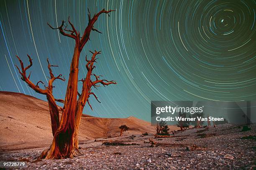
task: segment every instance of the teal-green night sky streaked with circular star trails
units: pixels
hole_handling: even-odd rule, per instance
[[[136,116],[150,120],[151,100],[256,100],[255,0],[0,0],[0,90],[42,100],[20,80],[18,55],[31,80],[46,82],[49,57],[55,75],[69,75],[74,40],[53,27],[70,20],[83,32],[102,8],[90,41],[80,56],[79,79],[86,75],[85,55],[101,50],[95,73],[117,85],[94,90],[84,113],[98,117]],[[43,87],[43,86],[41,86]],[[55,81],[54,96],[65,97],[66,82]],[[79,82],[79,91],[82,83]]]

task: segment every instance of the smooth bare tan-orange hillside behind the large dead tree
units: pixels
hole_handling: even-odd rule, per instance
[[[118,135],[118,127],[123,124],[130,128],[124,135],[155,133],[150,122],[136,117],[100,118],[83,115],[79,140]],[[44,147],[49,146],[52,139],[47,102],[22,93],[0,91],[0,149]]]

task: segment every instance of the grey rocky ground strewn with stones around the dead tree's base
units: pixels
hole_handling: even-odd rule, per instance
[[[216,128],[192,128],[172,138],[152,139],[156,143],[184,144],[150,147],[153,135],[101,138],[122,140],[138,145],[102,145],[88,140],[80,144],[82,156],[64,160],[33,160],[45,148],[1,151],[0,160],[27,161],[30,170],[88,169],[88,170],[241,170],[256,169],[256,125],[237,127],[230,124]],[[251,136],[250,136],[251,135]],[[187,147],[186,147],[187,146]]]

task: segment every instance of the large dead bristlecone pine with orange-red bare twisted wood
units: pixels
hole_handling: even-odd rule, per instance
[[[67,28],[68,24],[62,21],[61,25],[58,28],[53,28],[49,23],[49,27],[51,29],[59,30],[59,32],[66,36],[74,39],[74,54],[72,57],[72,62],[70,65],[70,72],[69,72],[69,80],[67,82],[67,91],[66,97],[64,100],[56,99],[53,96],[53,82],[57,79],[65,81],[64,77],[60,74],[58,76],[54,76],[51,67],[57,67],[57,65],[51,65],[49,59],[48,62],[48,69],[50,73],[50,77],[48,81],[48,86],[44,86],[45,88],[39,87],[40,83],[44,84],[43,81],[38,81],[36,84],[31,82],[30,76],[27,76],[27,70],[32,66],[32,59],[28,55],[28,59],[30,64],[27,67],[24,67],[22,60],[17,56],[18,60],[20,61],[20,68],[18,71],[21,75],[21,79],[25,81],[29,87],[31,87],[36,92],[46,95],[48,100],[50,115],[51,115],[51,130],[53,134],[53,141],[51,146],[44,150],[38,158],[43,159],[64,159],[64,158],[73,158],[74,156],[81,155],[78,150],[78,129],[81,120],[82,111],[84,109],[85,104],[87,103],[90,107],[89,97],[93,96],[97,101],[98,98],[94,92],[92,92],[92,87],[100,87],[100,85],[106,86],[110,84],[116,84],[115,81],[108,81],[100,79],[99,75],[95,75],[92,73],[93,69],[95,68],[94,63],[96,62],[96,56],[100,54],[100,51],[90,51],[92,53],[92,57],[85,60],[87,62],[87,75],[82,79],[78,80],[78,72],[79,72],[79,58],[80,54],[83,50],[84,45],[90,40],[90,32],[91,31],[98,31],[94,28],[94,24],[97,21],[98,17],[101,14],[107,14],[108,16],[110,12],[113,10],[101,10],[99,13],[95,14],[92,18],[90,15],[90,11],[88,10],[88,20],[89,23],[85,28],[82,36],[80,33],[74,28],[74,25],[68,19],[68,24],[71,27],[70,29]],[[77,85],[78,81],[82,82],[82,91],[79,92]],[[60,110],[62,112],[61,118],[59,119],[59,109],[56,102],[64,103],[63,108]],[[92,107],[91,107],[92,108]]]

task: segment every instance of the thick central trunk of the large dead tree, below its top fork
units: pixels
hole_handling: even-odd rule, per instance
[[[79,44],[75,46],[74,55],[70,66],[69,82],[67,85],[66,98],[61,116],[59,128],[54,135],[51,149],[46,155],[46,159],[50,158],[73,158],[77,155],[74,150],[73,133],[74,133],[74,117],[77,106],[77,81],[78,81],[78,64],[79,64]]]

